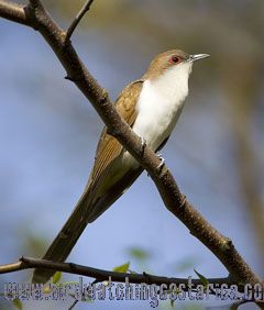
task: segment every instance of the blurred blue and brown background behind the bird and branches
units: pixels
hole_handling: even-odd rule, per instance
[[[43,1],[64,27],[82,2]],[[113,101],[161,52],[182,48],[211,55],[194,66],[186,107],[162,154],[188,200],[232,239],[261,277],[263,20],[261,0],[95,0],[73,35],[81,59]],[[103,124],[64,79],[64,69],[37,32],[1,19],[0,68],[0,264],[7,264],[22,255],[44,254],[82,192]],[[133,255],[134,248],[145,258]],[[128,261],[138,273],[196,277],[196,268],[206,277],[228,276],[209,250],[167,212],[145,173],[87,226],[68,257],[102,269]],[[30,276],[31,272],[1,276],[1,290],[3,283],[29,281]],[[37,307],[65,309],[70,302]],[[120,302],[125,309],[148,307],[148,301],[103,306],[118,309]],[[2,300],[0,305],[12,309]],[[76,309],[101,306],[79,302]],[[167,303],[160,307],[166,309]],[[25,302],[24,309],[35,309],[35,303]]]

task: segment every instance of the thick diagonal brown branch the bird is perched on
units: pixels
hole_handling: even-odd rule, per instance
[[[0,16],[14,20],[12,19],[13,13],[7,14],[7,10],[1,10],[1,8],[6,8],[3,3],[0,0]],[[158,168],[160,158],[155,153],[146,146],[142,154],[141,139],[118,114],[108,98],[107,91],[100,87],[84,66],[72,43],[69,41],[65,42],[65,32],[52,20],[42,7],[41,1],[30,0],[30,3],[31,5],[24,8],[26,20],[23,23],[40,31],[67,71],[67,77],[90,100],[108,126],[108,132],[147,170],[167,210],[177,217],[189,229],[190,233],[219,258],[232,279],[239,283],[261,283],[260,278],[235,250],[232,241],[213,229],[185,199],[167,167],[164,166],[161,171]],[[22,23],[21,21],[22,18],[18,19],[18,22]]]

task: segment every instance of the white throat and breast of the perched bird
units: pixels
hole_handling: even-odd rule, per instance
[[[136,109],[138,118],[133,131],[145,139],[152,150],[172,133],[188,95],[188,77],[191,64],[172,67],[155,80],[145,80]],[[127,164],[131,156],[124,153]]]

